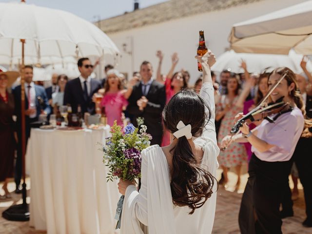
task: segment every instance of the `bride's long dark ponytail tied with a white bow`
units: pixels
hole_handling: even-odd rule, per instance
[[[209,115],[205,113],[208,109]],[[177,123],[182,120],[185,125],[192,125],[192,136],[198,137],[211,117],[211,110],[205,100],[193,90],[181,90],[173,96],[163,110],[166,129],[176,132]],[[208,121],[207,121],[208,119]],[[191,208],[189,214],[204,205],[213,193],[215,177],[202,168],[196,161],[192,148],[186,137],[177,139],[171,150],[173,155],[173,174],[170,182],[173,203],[177,206]]]

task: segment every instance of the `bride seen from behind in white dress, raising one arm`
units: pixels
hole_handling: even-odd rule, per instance
[[[215,55],[197,56],[203,68],[200,95],[178,92],[163,110],[171,144],[142,151],[141,188],[120,180],[125,195],[121,234],[208,234],[215,218],[219,148],[210,67]]]

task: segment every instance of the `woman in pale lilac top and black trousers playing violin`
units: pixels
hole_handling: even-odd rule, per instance
[[[284,77],[281,81],[280,78]],[[282,99],[288,103],[278,114],[264,119],[252,131],[243,123],[234,142],[250,142],[253,155],[249,162],[249,178],[239,211],[239,228],[242,234],[281,234],[282,220],[279,206],[292,165],[292,154],[304,128],[304,107],[297,82],[289,68],[275,69],[269,75],[269,88],[273,89],[273,102]],[[241,118],[242,113],[235,119]],[[226,146],[231,137],[222,140]]]

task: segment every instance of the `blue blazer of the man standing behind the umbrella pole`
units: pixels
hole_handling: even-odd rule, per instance
[[[21,117],[21,98],[20,98],[20,91],[21,86],[15,87],[13,90],[14,100],[15,100],[15,115],[17,116],[17,122],[19,124],[19,119]],[[35,92],[36,92],[36,109],[37,109],[37,118],[39,117],[41,110],[44,110],[48,115],[51,113],[49,101],[47,95],[45,93],[45,89],[42,86],[35,84]],[[43,99],[43,104],[39,104],[38,98]],[[28,99],[26,97],[26,90],[25,90],[25,110],[28,109]],[[26,116],[26,119],[28,117]]]

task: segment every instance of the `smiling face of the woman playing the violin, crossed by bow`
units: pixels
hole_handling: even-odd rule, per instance
[[[268,81],[268,86],[269,89],[279,80],[279,78],[281,77],[281,75],[277,74],[277,73],[273,73]],[[288,101],[290,98],[292,98],[290,96],[290,93],[292,92],[292,90],[295,88],[295,84],[292,82],[290,85],[288,85],[287,79],[284,78],[278,85],[277,87],[273,90],[272,94],[271,94],[271,98],[272,100],[275,102],[276,100],[278,100],[279,98],[283,98],[284,101]]]

